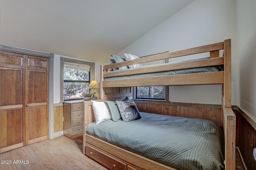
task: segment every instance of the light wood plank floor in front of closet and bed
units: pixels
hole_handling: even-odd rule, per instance
[[[106,170],[82,153],[82,137],[74,140],[65,136],[48,139],[4,152],[0,160],[0,163],[11,161],[9,165],[0,164],[1,170]],[[15,164],[16,160],[23,160],[20,162],[23,164]]]

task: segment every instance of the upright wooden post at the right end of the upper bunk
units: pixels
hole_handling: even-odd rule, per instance
[[[225,107],[231,107],[231,39],[224,40],[224,86]]]

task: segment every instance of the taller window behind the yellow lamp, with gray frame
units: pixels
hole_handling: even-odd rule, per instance
[[[94,80],[94,64],[86,61],[61,57],[60,99],[82,99],[82,93],[89,91],[89,84]],[[63,88],[62,88],[63,87]],[[63,99],[63,100],[62,100]]]

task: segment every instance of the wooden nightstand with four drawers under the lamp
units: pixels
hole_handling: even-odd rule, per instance
[[[75,139],[83,135],[84,100],[65,101],[64,135]]]

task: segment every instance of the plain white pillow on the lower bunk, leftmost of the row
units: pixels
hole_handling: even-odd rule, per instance
[[[92,100],[92,109],[96,120],[96,125],[100,122],[112,119],[108,104]]]

